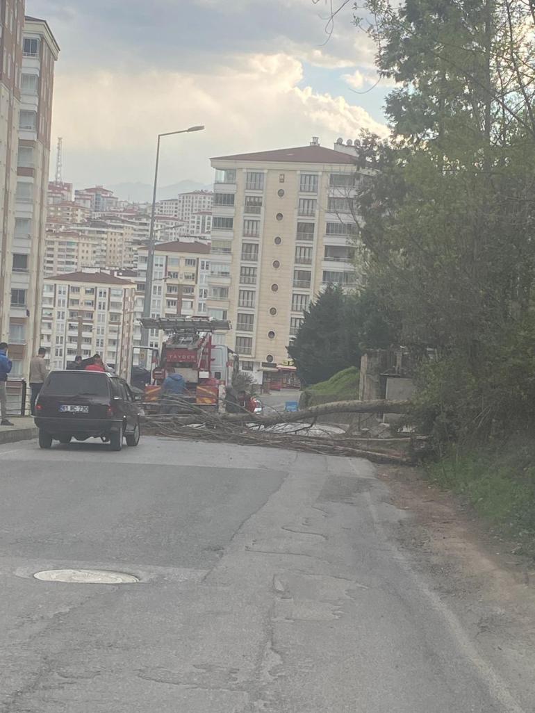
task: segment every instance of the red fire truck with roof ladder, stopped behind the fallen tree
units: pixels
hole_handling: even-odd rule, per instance
[[[217,406],[219,386],[232,384],[238,355],[228,347],[213,344],[212,335],[228,332],[230,322],[209,317],[156,317],[143,318],[141,324],[145,329],[159,329],[168,334],[158,366],[152,372],[152,383],[145,389],[146,401],[159,401],[168,366],[173,366],[185,381],[185,398],[200,406]]]

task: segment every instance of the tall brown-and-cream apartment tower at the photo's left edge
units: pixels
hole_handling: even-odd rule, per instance
[[[26,376],[39,342],[54,63],[46,21],[24,17],[24,1],[0,5],[0,339],[13,376]]]

